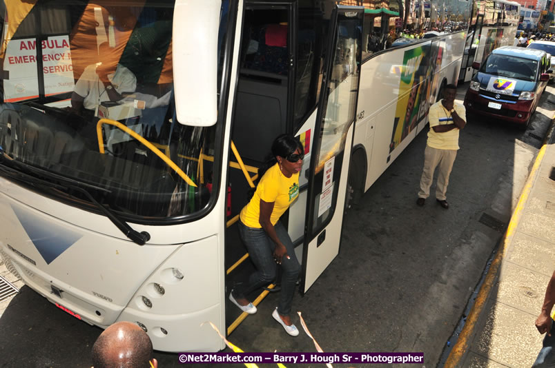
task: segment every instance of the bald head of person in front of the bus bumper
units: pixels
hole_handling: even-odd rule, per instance
[[[152,359],[153,344],[135,323],[114,323],[93,345],[95,368],[149,368]]]

